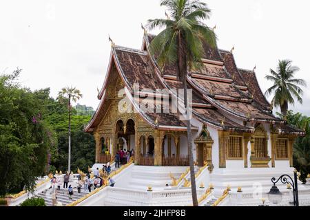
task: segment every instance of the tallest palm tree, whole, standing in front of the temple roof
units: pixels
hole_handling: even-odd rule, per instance
[[[216,35],[202,21],[209,19],[211,10],[206,3],[200,0],[162,0],[161,6],[167,7],[170,17],[167,19],[152,19],[147,28],[165,28],[150,44],[150,52],[157,57],[158,65],[177,64],[178,80],[183,81],[184,104],[189,113],[187,104],[187,71],[202,67],[202,58],[205,55],[203,45],[216,47]],[[196,180],[194,171],[192,129],[189,118],[187,122],[187,144],[189,166],[192,184],[193,206],[198,206]]]

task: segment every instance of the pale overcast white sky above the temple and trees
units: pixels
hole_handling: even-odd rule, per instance
[[[141,23],[165,18],[159,0],[1,0],[0,74],[23,69],[31,89],[50,87],[53,97],[67,85],[81,89],[80,104],[96,109],[110,58],[108,34],[116,45],[140,49]],[[253,69],[265,91],[269,68],[279,59],[300,67],[297,78],[309,85],[304,104],[310,115],[310,2],[306,0],[209,0],[207,25],[216,25],[218,46],[231,50],[238,67]],[[156,34],[156,32],[154,32]],[[270,98],[269,98],[270,99]]]

